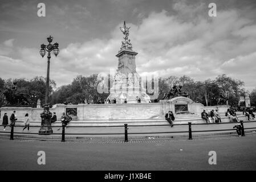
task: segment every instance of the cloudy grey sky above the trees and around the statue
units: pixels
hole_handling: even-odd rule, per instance
[[[38,17],[38,3],[46,16]],[[209,3],[217,5],[210,17]],[[194,80],[221,74],[256,87],[256,1],[0,0],[0,77],[46,76],[39,55],[47,36],[59,43],[50,77],[57,86],[77,75],[117,68],[115,55],[126,20],[140,75],[187,75]]]

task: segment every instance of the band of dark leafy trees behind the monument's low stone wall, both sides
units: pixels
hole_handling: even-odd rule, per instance
[[[108,75],[108,81],[110,77]],[[42,76],[34,77],[30,80],[25,78],[14,78],[3,80],[0,78],[0,106],[5,104],[5,97],[3,91],[7,88],[11,88],[13,82],[17,82],[19,92],[25,92],[30,94],[36,94],[44,104],[45,91],[46,91],[46,78]],[[78,75],[74,78],[71,84],[60,86],[56,88],[54,80],[50,80],[50,102],[51,105],[60,103],[72,103],[80,104],[84,101],[96,103],[99,99],[104,100],[108,97],[109,93],[97,92],[97,87],[101,82],[101,77],[97,74],[90,76]],[[108,91],[111,83],[108,82]],[[183,92],[188,93],[189,97],[195,101],[206,105],[205,93],[209,94],[208,105],[216,105],[217,98],[220,95],[229,97],[229,105],[237,106],[240,96],[245,96],[245,89],[243,81],[235,80],[227,75],[219,75],[215,79],[205,81],[194,81],[189,76],[169,76],[166,78],[159,78],[159,97],[157,100],[161,100],[164,93],[169,92],[173,85],[182,85]],[[249,92],[247,92],[249,93]],[[251,105],[256,105],[256,89],[249,93]]]

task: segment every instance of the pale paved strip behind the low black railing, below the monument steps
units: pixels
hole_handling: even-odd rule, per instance
[[[223,129],[233,129],[234,125],[237,125],[239,123],[225,123],[225,124],[209,124],[209,125],[192,125],[192,132],[193,131],[202,131],[202,130],[223,130]],[[245,122],[244,123],[245,128],[251,128],[256,127],[256,122]],[[2,128],[2,127],[1,127]],[[30,137],[41,137],[41,138],[60,138],[62,129],[57,131],[59,127],[52,127],[54,130],[54,134],[59,133],[59,135],[38,135],[39,127],[30,127],[31,133],[27,133],[27,130],[25,130],[24,133],[22,133],[23,127],[15,127],[14,131],[19,132],[21,134],[14,134],[14,137],[16,135],[22,136],[30,136]],[[252,129],[255,130],[255,129]],[[1,131],[3,131],[1,129]],[[131,134],[131,133],[156,133],[156,132],[180,132],[180,131],[186,131],[186,133],[162,133],[162,134]],[[247,130],[246,130],[247,131]],[[6,132],[10,132],[10,127],[6,127]],[[198,133],[192,133],[193,136],[196,135],[210,135],[214,133],[235,133],[235,130],[231,131],[212,131],[212,132],[198,132]],[[32,134],[34,133],[34,134]],[[87,135],[78,135],[79,133],[87,133]],[[90,133],[97,133],[97,134],[104,134],[105,135],[91,135]],[[120,133],[117,135],[112,135],[112,133]],[[0,133],[2,135],[3,133]],[[9,133],[5,133],[7,136],[9,136]],[[66,138],[68,137],[88,137],[88,138],[124,138],[124,127],[87,127],[87,128],[74,128],[74,127],[67,127],[66,129]],[[71,134],[71,135],[68,135]],[[76,134],[76,135],[74,135]],[[148,138],[148,137],[160,137],[160,136],[188,136],[188,126],[140,126],[140,127],[132,127],[128,126],[128,138]]]

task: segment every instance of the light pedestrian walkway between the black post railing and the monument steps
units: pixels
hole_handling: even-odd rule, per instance
[[[193,137],[236,134],[234,125],[239,123],[223,123],[208,125],[192,125]],[[256,122],[244,122],[246,132],[256,131]],[[61,127],[52,127],[53,134],[38,135],[40,127],[30,127],[30,131],[22,131],[23,127],[14,127],[14,138],[58,139],[62,137]],[[58,130],[59,129],[59,130]],[[129,139],[188,138],[188,125],[170,126],[128,126]],[[217,131],[210,131],[217,130]],[[225,130],[225,131],[219,131]],[[6,131],[1,128],[0,137],[9,137],[10,127]],[[66,139],[124,139],[124,127],[66,127]]]

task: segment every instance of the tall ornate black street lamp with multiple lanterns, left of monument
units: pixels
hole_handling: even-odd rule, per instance
[[[50,58],[51,58],[51,51],[54,53],[55,56],[59,54],[59,44],[54,43],[53,45],[51,44],[52,42],[52,36],[49,36],[47,38],[48,45],[41,45],[41,49],[39,51],[40,55],[43,57],[46,55],[46,51],[48,52],[47,58],[48,58],[48,64],[47,64],[47,77],[46,77],[46,98],[44,102],[44,107],[43,107],[43,113],[40,114],[40,117],[42,118],[41,121],[41,127],[39,130],[39,135],[50,135],[52,134],[52,129],[51,129],[51,117],[52,113],[49,111],[49,75],[50,75]]]

